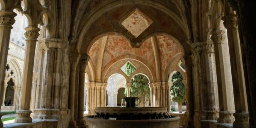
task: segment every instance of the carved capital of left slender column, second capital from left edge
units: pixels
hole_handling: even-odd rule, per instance
[[[40,29],[38,27],[32,27],[32,26],[28,26],[25,28],[26,32],[25,32],[25,37],[26,40],[37,40],[38,36],[39,36],[39,31]]]

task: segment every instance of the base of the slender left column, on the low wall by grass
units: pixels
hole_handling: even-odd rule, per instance
[[[17,110],[18,117],[15,119],[16,123],[31,123],[30,110]]]

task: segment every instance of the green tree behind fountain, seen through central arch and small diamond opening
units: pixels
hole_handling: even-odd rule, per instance
[[[129,62],[125,64],[125,74],[130,76],[134,72],[135,67]],[[150,101],[150,88],[148,78],[144,75],[136,75],[131,79],[130,96],[140,98],[140,106],[144,107],[145,103]],[[125,96],[127,96],[127,88],[125,88]]]

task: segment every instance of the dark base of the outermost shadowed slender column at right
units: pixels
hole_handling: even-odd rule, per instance
[[[234,113],[235,121],[233,123],[234,128],[249,128],[249,113]]]

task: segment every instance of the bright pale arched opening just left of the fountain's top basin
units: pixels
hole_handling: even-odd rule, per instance
[[[118,103],[117,103],[118,90],[119,88],[125,88],[125,83],[126,83],[126,79],[121,74],[113,74],[108,78],[107,107],[118,106]]]

